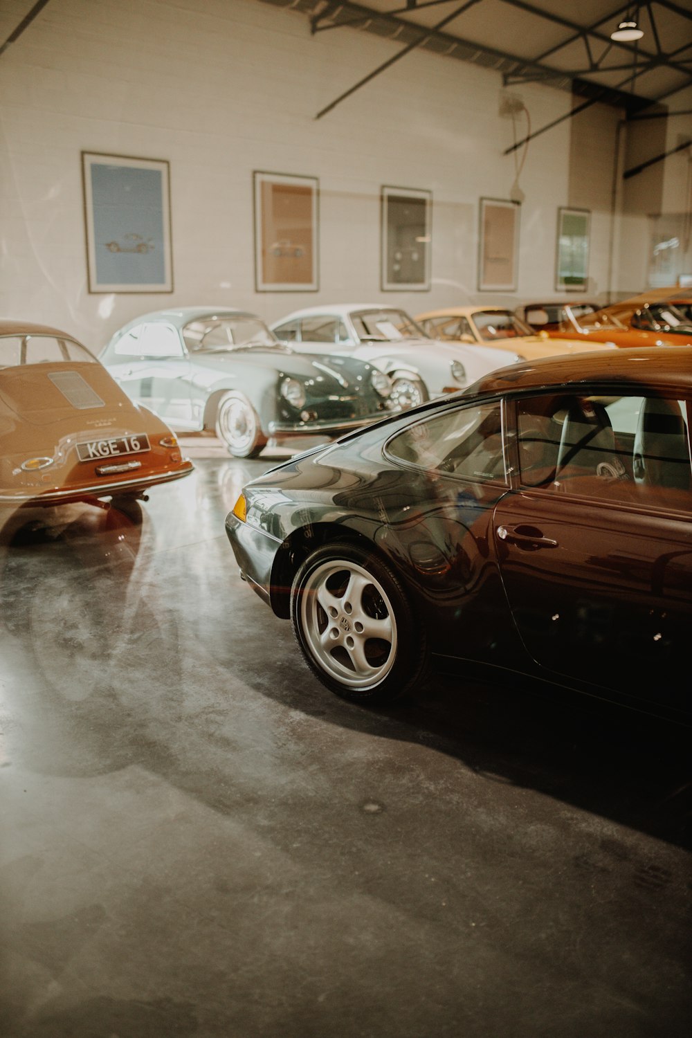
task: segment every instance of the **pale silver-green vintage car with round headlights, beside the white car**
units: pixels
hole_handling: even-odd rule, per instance
[[[100,359],[131,400],[176,431],[215,430],[238,458],[304,437],[334,439],[389,408],[391,383],[377,367],[299,353],[244,310],[144,313],[115,332]]]

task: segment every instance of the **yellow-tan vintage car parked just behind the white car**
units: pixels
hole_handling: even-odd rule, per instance
[[[577,335],[574,338],[552,338],[548,332],[536,332],[513,310],[500,306],[448,306],[418,313],[416,321],[428,335],[443,343],[491,346],[507,353],[519,353],[524,360],[612,349],[601,343],[585,343]]]

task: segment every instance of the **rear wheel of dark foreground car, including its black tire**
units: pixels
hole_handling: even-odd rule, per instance
[[[390,703],[427,668],[425,631],[398,577],[350,542],[305,559],[290,589],[290,623],[310,670],[352,703]]]

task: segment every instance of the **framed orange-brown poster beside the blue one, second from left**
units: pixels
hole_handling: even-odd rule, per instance
[[[316,292],[315,176],[254,172],[255,290]]]

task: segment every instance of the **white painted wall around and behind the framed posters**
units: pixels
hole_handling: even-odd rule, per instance
[[[28,0],[5,0],[3,38]],[[0,316],[55,324],[100,348],[124,321],[172,304],[246,307],[266,320],[321,301],[412,312],[515,305],[554,293],[557,209],[569,204],[572,120],[505,156],[526,125],[499,114],[501,77],[412,52],[316,119],[400,45],[255,0],[60,0],[0,58]],[[531,129],[569,92],[513,91]],[[82,151],[170,162],[174,292],[89,294]],[[515,294],[477,291],[478,199],[507,198],[521,167]],[[252,171],[320,181],[320,290],[254,290]],[[594,168],[610,184],[612,163]],[[380,188],[433,192],[430,292],[380,292]],[[610,213],[597,212],[590,274],[607,284]],[[638,291],[640,283],[633,286]]]

